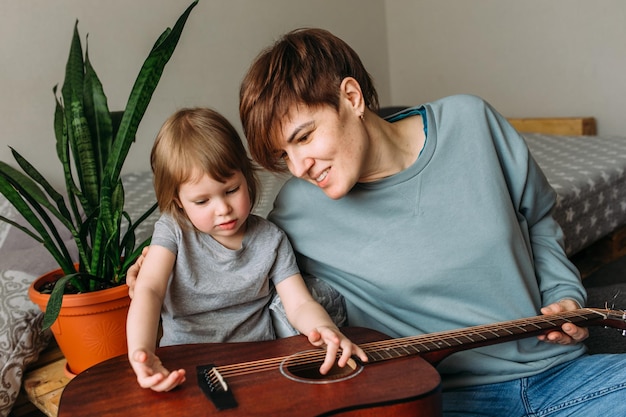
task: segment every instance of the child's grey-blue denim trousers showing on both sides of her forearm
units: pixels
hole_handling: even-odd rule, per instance
[[[348,320],[343,296],[319,278],[305,276],[304,282],[309,288],[313,298],[326,309],[333,322],[335,322],[338,327],[347,325]],[[274,323],[276,337],[281,338],[298,334],[298,331],[289,324],[287,315],[285,314],[285,308],[278,294],[275,294],[272,298],[269,309]]]

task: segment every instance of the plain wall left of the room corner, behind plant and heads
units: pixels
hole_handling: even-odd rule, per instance
[[[61,84],[76,19],[112,109],[125,105],[154,41],[191,0],[5,0],[0,2],[0,158],[15,147],[60,185],[52,87]],[[382,0],[200,0],[131,148],[125,170],[149,170],[161,123],[182,106],[221,111],[240,131],[239,83],[252,59],[300,26],[331,30],[361,55],[390,101]],[[60,85],[59,85],[60,87]]]

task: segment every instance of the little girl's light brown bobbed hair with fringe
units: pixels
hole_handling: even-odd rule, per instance
[[[207,108],[181,109],[170,116],[157,134],[150,154],[154,191],[162,213],[181,225],[187,217],[175,199],[181,184],[193,175],[208,174],[225,182],[241,171],[254,206],[258,179],[252,160],[235,128],[224,116]]]

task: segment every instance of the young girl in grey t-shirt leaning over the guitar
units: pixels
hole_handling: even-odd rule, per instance
[[[326,345],[326,373],[364,352],[312,298],[285,234],[250,214],[257,179],[232,125],[205,108],[183,109],[161,128],[152,148],[161,210],[128,312],[128,356],[139,385],[168,391],[185,370],[168,371],[161,346],[274,339],[272,287],[291,324],[315,346]],[[272,283],[270,283],[272,281]]]

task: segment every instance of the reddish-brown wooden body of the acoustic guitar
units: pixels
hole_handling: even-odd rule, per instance
[[[388,338],[367,329],[344,330],[357,343]],[[166,393],[140,388],[127,357],[119,356],[70,381],[61,396],[59,417],[304,416],[325,412],[349,416],[441,415],[439,374],[419,356],[366,365],[337,382],[295,381],[281,374],[279,366],[268,366],[310,349],[303,336],[270,342],[160,348],[157,354],[166,367],[187,371],[187,381]],[[224,374],[237,407],[218,411],[203,394],[196,367],[206,364],[220,369],[231,364],[237,369],[252,369],[246,375]]]

